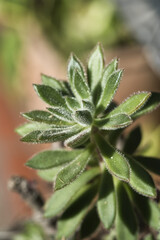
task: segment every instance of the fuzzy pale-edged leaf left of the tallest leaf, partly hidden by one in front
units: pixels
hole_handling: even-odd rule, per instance
[[[74,85],[73,85],[75,69],[78,69],[82,77],[85,76],[83,66],[80,60],[75,55],[72,54],[68,63],[68,78],[69,78],[69,82],[70,82],[73,93],[75,92]]]

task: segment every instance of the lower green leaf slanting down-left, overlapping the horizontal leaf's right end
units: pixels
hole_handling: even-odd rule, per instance
[[[90,155],[90,149],[86,149],[74,161],[64,167],[57,175],[55,190],[65,187],[79,177],[85,170]]]

